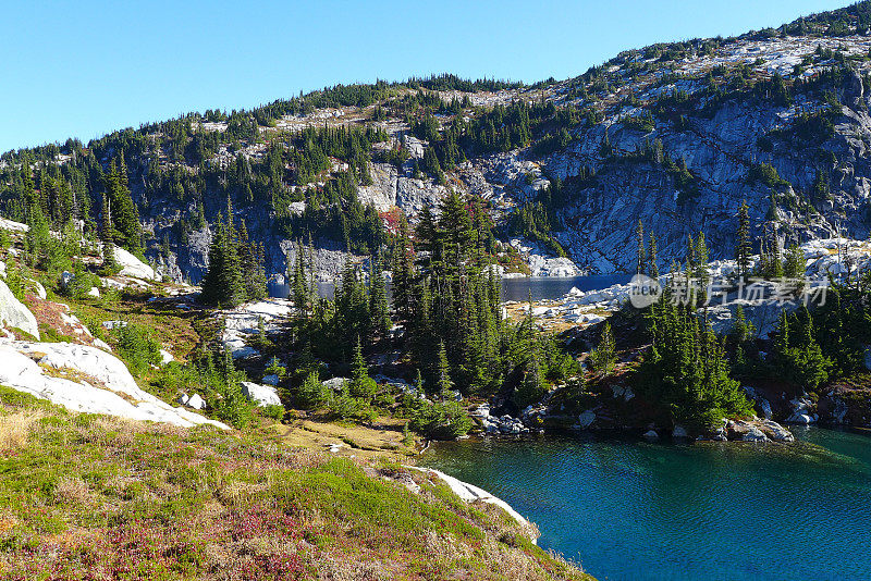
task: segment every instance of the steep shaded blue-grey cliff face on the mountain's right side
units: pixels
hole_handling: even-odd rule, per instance
[[[850,77],[845,95],[861,79]],[[553,176],[571,180],[579,168],[597,171],[592,180],[572,188],[569,202],[561,209],[563,245],[572,257],[593,271],[626,271],[634,268],[636,243],[634,226],[638,221],[658,237],[660,257],[682,259],[686,239],[703,231],[715,258],[729,256],[734,247],[736,214],[743,201],[750,208],[756,234],[761,234],[771,208],[772,188],[751,177],[761,163],[777,170],[785,182],[774,188],[786,207],[809,191],[820,172],[820,151],[832,153],[836,162],[826,162],[835,176],[830,199],[818,208],[789,210],[776,208],[775,220],[768,225],[784,239],[788,233],[798,239],[829,237],[838,226],[854,237],[869,232],[869,178],[871,164],[867,144],[871,140],[868,102],[860,96],[850,109],[842,107],[833,136],[821,149],[803,149],[797,144],[777,144],[774,150],[760,148],[760,138],[788,124],[795,107],[775,107],[764,102],[729,102],[712,119],[692,118],[688,127],[677,131],[664,123],[642,134],[614,122],[606,128],[617,150],[633,152],[660,139],[672,159],[684,160],[697,182],[698,190],[689,199],[670,172],[654,162],[628,157],[602,159],[598,152],[604,139],[596,128],[582,135],[568,151],[543,160],[542,166]],[[723,252],[723,249],[728,251]]]

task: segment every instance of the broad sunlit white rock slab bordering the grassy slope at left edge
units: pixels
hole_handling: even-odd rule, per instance
[[[228,425],[173,408],[136,385],[126,366],[96,347],[73,343],[0,343],[0,384],[70,410],[185,428]]]

